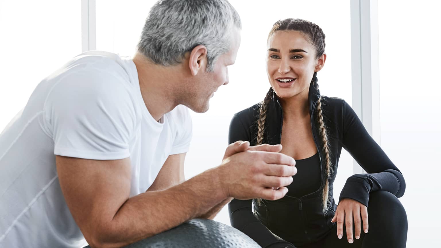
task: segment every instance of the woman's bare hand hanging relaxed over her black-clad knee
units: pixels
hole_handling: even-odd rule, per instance
[[[353,243],[352,223],[355,227],[355,238],[359,239],[361,235],[361,223],[363,221],[363,230],[367,233],[369,229],[367,207],[356,200],[345,198],[337,206],[334,218],[331,222],[337,222],[337,236],[343,237],[343,225],[346,225],[346,236],[348,242]]]

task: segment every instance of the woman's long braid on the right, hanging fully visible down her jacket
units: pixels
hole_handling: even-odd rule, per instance
[[[318,83],[317,78],[313,77],[313,83],[314,87],[318,90]],[[326,171],[325,171],[325,185],[323,186],[323,193],[322,193],[322,203],[323,203],[323,213],[325,214],[326,211],[329,209],[329,178],[331,176],[331,173],[333,173],[333,169],[331,167],[331,159],[330,159],[330,153],[329,153],[329,142],[328,142],[328,131],[326,129],[326,126],[323,122],[323,115],[321,111],[321,101],[322,97],[320,96],[317,101],[317,121],[318,121],[318,129],[321,137],[321,142],[323,143],[323,153],[325,154],[325,165],[326,165]]]

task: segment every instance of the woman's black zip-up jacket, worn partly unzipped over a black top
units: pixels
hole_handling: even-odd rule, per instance
[[[300,198],[285,196],[276,201],[263,200],[261,206],[254,201],[254,214],[251,209],[252,200],[233,199],[228,204],[232,226],[246,233],[262,247],[268,247],[275,243],[283,244],[284,240],[295,245],[309,244],[325,237],[336,225],[331,222],[336,210],[336,203],[333,199],[333,182],[342,147],[367,173],[349,177],[340,193],[340,200],[351,198],[369,207],[370,192],[384,190],[391,192],[396,197],[401,197],[404,194],[406,184],[400,170],[368,134],[351,106],[343,99],[322,96],[321,109],[323,121],[329,132],[330,159],[334,171],[329,179],[330,210],[326,214],[322,213],[321,194],[325,183],[325,159],[316,121],[316,105],[319,96],[320,92],[311,84],[309,89],[310,123],[320,158],[320,188]],[[273,93],[266,114],[263,141],[272,145],[280,144],[283,109],[275,93]],[[255,145],[258,117],[259,104],[236,113],[230,124],[229,143],[247,140],[251,145]],[[308,179],[294,176],[294,180]],[[283,220],[283,223],[280,223],[280,220]],[[283,230],[280,229],[281,226],[283,226]]]

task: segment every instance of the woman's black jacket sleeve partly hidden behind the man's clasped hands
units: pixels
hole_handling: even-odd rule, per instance
[[[245,127],[237,114],[233,116],[230,123],[230,130],[228,134],[228,144],[234,143],[238,140],[250,141],[250,127]],[[252,200],[233,199],[228,203],[228,214],[230,215],[230,222],[232,227],[239,229],[241,232],[247,234],[261,247],[265,248],[282,248],[294,246],[277,237],[271,233],[265,225],[262,224],[252,211]]]

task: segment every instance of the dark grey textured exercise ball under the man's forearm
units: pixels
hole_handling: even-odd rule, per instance
[[[229,225],[193,219],[125,248],[260,248],[260,245]]]

